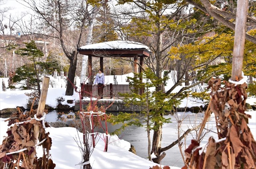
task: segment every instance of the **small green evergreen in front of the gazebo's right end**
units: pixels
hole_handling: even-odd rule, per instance
[[[144,83],[141,83],[140,79],[144,79]],[[172,95],[166,95],[162,91],[155,91],[158,84],[164,83],[164,81],[168,80],[167,77],[163,79],[158,79],[156,75],[152,72],[151,69],[147,68],[144,72],[141,74],[134,74],[134,78],[130,78],[131,82],[129,83],[132,88],[132,93],[126,93],[123,94],[125,96],[124,102],[127,105],[137,105],[141,107],[140,114],[128,114],[128,113],[119,113],[118,116],[113,117],[112,121],[110,121],[113,124],[119,124],[123,123],[123,126],[116,130],[115,132],[118,132],[122,129],[124,129],[126,126],[129,125],[137,125],[137,126],[143,126],[147,130],[147,137],[148,137],[148,157],[151,161],[151,154],[152,153],[159,153],[159,149],[155,150],[152,145],[151,148],[151,139],[150,139],[150,131],[158,131],[159,128],[162,128],[162,125],[164,123],[170,123],[170,118],[165,119],[162,114],[165,113],[165,111],[171,111],[172,106],[176,105],[178,106],[180,104],[179,100],[177,99],[171,99]],[[141,95],[139,94],[140,90],[143,89],[144,93]],[[181,98],[182,99],[182,98]],[[136,117],[141,117],[143,121],[139,121],[136,119]],[[132,121],[130,121],[132,120]],[[124,123],[124,121],[129,121],[128,123]],[[146,124],[144,125],[144,123]],[[155,137],[155,136],[153,136]],[[161,139],[161,137],[160,137]],[[153,139],[154,140],[154,139]],[[152,142],[152,144],[160,143],[158,142]],[[158,163],[159,161],[156,159],[153,159],[154,162]]]

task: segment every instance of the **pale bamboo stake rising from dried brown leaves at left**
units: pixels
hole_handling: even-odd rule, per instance
[[[42,115],[44,113],[44,109],[45,109],[45,102],[46,102],[46,97],[47,97],[47,92],[48,92],[48,87],[49,87],[49,77],[44,77],[43,80],[43,86],[42,86],[42,91],[41,91],[41,95],[40,95],[40,99],[39,99],[39,104],[38,104],[38,108],[37,108],[37,116]],[[37,143],[38,137],[39,137],[39,126],[38,125],[34,125],[34,138],[32,139],[34,141],[34,143]],[[30,155],[30,162],[33,165],[34,162],[34,158],[35,158],[35,153],[33,152]]]

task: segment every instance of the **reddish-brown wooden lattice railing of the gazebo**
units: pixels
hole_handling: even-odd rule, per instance
[[[134,86],[131,85],[113,85],[112,83],[109,85],[83,85],[83,90],[81,95],[83,97],[103,97],[107,96],[112,98],[113,96],[120,96],[120,93],[129,93],[132,94],[134,91],[138,92],[138,94],[142,94],[144,92],[143,89],[134,90]]]

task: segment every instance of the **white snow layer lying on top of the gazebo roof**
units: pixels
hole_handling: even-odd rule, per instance
[[[95,43],[78,48],[78,51],[88,50],[148,50],[148,46],[134,41],[115,40],[109,42]]]

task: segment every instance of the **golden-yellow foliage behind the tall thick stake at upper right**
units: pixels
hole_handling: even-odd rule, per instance
[[[256,30],[252,30],[249,33],[254,35],[256,34]],[[220,69],[222,71],[217,73],[215,76],[219,77],[221,74],[224,74],[224,79],[228,80],[232,71],[232,61],[230,59],[233,56],[233,43],[233,34],[215,34],[211,37],[203,37],[198,39],[198,41],[194,42],[193,44],[190,43],[183,46],[172,47],[169,51],[169,54],[171,55],[170,58],[172,60],[181,59],[181,56],[184,55],[186,58],[192,58],[193,62],[191,66],[197,67],[194,69],[194,71],[197,73],[202,73],[204,68],[206,68],[206,72],[200,76],[198,80],[204,79],[205,77]],[[246,76],[256,76],[255,48],[256,44],[246,40],[243,60],[243,71]],[[224,57],[226,63],[208,65],[207,67],[199,66],[203,63],[213,60],[217,56]]]

